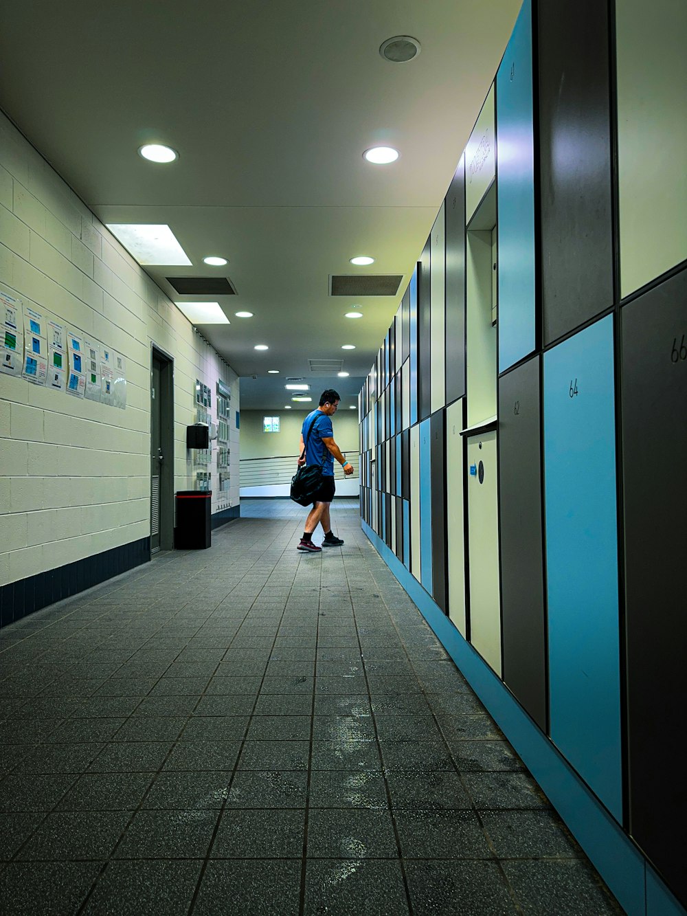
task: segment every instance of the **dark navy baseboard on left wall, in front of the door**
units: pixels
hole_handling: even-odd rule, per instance
[[[0,587],[0,627],[16,623],[41,607],[79,594],[149,560],[150,538],[141,538],[3,585]]]

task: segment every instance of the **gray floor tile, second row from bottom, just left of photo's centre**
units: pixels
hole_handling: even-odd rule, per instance
[[[211,856],[225,859],[300,859],[304,830],[304,809],[228,809],[222,814]]]

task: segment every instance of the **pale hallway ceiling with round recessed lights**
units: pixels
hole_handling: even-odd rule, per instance
[[[242,407],[276,409],[287,376],[341,381],[313,376],[311,359],[344,358],[359,389],[518,8],[6,0],[0,105],[105,224],[169,224],[192,267],[145,269],[173,301],[220,302],[231,323],[200,332],[239,376],[258,376]],[[380,56],[396,35],[420,41],[415,60]],[[150,142],[179,159],[147,162],[137,149]],[[400,158],[371,165],[362,154],[377,145]],[[229,263],[207,267],[208,255]],[[357,255],[375,263],[354,267]],[[396,296],[332,297],[339,274],[404,279]],[[236,295],[180,296],[166,279],[179,276],[228,277]],[[344,318],[354,305],[362,320]]]

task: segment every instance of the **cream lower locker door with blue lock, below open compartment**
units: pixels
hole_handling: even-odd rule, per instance
[[[467,441],[470,641],[501,676],[496,432]]]

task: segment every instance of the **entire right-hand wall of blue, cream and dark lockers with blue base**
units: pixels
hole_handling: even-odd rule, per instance
[[[398,417],[367,536],[650,916],[687,903],[686,10],[526,0],[361,394]]]

